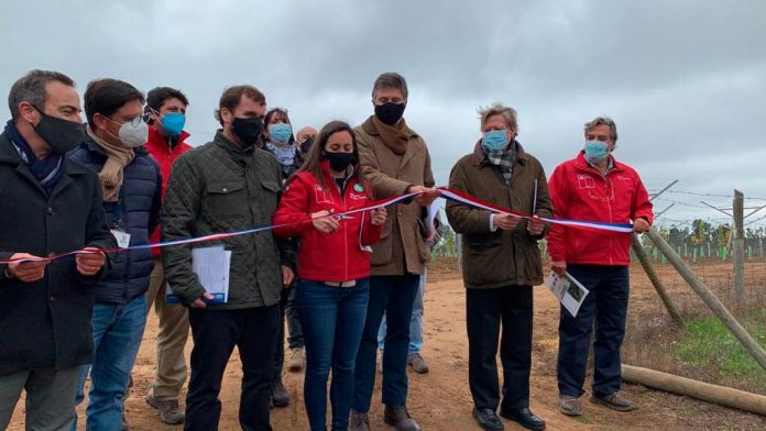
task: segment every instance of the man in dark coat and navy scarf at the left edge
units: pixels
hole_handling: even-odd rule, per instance
[[[75,82],[32,70],[8,98],[0,134],[0,429],[22,389],[28,429],[68,430],[79,366],[92,358],[94,284],[103,253],[18,261],[84,248],[111,248],[96,175],[64,154],[83,142]]]

